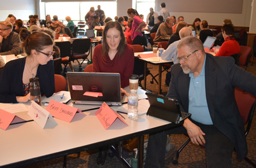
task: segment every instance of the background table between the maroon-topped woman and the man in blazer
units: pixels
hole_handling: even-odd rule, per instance
[[[140,55],[141,53],[153,53],[153,52],[136,52],[134,53],[134,56],[136,58],[138,58],[137,56]],[[158,53],[157,53],[158,55]],[[161,58],[161,57],[160,57]],[[172,60],[162,60],[160,59],[159,62],[154,62],[154,61],[150,61],[150,59],[141,59],[141,58],[138,58],[139,60],[143,61],[145,66],[144,66],[144,85],[143,85],[143,88],[146,89],[146,86],[147,86],[147,64],[152,64],[154,66],[158,66],[158,88],[157,88],[157,93],[158,94],[161,94],[161,85],[162,85],[162,66],[164,64],[172,64],[173,61]]]

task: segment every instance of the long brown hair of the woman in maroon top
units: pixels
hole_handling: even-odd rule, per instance
[[[122,25],[115,21],[109,21],[108,23],[106,23],[105,25],[105,28],[104,28],[104,31],[103,31],[103,34],[102,34],[102,39],[103,39],[103,42],[102,42],[102,57],[104,57],[104,55],[109,52],[109,46],[108,46],[108,43],[107,43],[107,32],[109,29],[115,27],[119,32],[120,32],[120,36],[121,36],[121,40],[120,40],[120,43],[117,47],[117,54],[119,57],[122,57],[123,53],[124,53],[124,50],[125,50],[125,47],[126,47],[126,44],[125,44],[125,37],[124,37],[124,31],[122,29]]]

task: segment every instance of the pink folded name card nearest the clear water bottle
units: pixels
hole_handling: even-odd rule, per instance
[[[106,102],[103,102],[100,108],[95,112],[95,115],[100,120],[100,123],[103,125],[104,129],[108,129],[108,127],[110,127],[110,125],[112,125],[116,120],[120,120],[128,125],[123,118],[116,113],[115,110],[109,108]]]

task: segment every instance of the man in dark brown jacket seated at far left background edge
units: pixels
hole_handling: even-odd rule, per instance
[[[0,55],[18,55],[20,53],[20,37],[12,31],[12,24],[0,22]]]

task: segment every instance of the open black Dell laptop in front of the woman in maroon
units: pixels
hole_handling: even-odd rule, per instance
[[[122,104],[119,73],[68,72],[67,79],[73,104],[101,105],[103,102],[110,106]],[[102,95],[92,97],[84,95],[85,92],[102,93]]]

